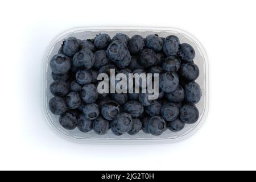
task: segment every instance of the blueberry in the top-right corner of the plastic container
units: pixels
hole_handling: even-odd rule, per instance
[[[180,44],[179,57],[185,62],[192,62],[195,58],[195,50],[187,43]]]

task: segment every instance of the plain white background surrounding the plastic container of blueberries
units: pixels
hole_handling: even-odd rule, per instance
[[[0,169],[256,169],[255,1],[1,1]],[[42,56],[80,26],[176,27],[209,57],[207,120],[174,144],[76,144],[41,109]]]

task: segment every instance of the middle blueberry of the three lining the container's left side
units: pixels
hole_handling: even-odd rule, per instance
[[[64,97],[69,92],[69,84],[62,80],[55,80],[49,86],[49,90],[53,96]]]

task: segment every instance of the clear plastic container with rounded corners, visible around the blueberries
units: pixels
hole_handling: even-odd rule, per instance
[[[196,104],[199,110],[199,119],[192,125],[185,125],[184,129],[174,133],[170,130],[165,131],[162,135],[156,137],[151,134],[145,134],[140,131],[137,135],[123,134],[116,136],[111,130],[105,135],[97,135],[94,131],[89,133],[82,133],[77,128],[75,130],[65,130],[59,124],[59,116],[54,115],[48,108],[48,102],[53,97],[49,92],[49,84],[51,84],[51,68],[49,67],[49,61],[53,55],[57,54],[57,51],[61,47],[63,40],[69,36],[75,36],[78,39],[92,39],[97,34],[106,33],[112,38],[117,33],[124,33],[129,37],[138,34],[144,38],[150,34],[158,34],[159,37],[166,37],[168,35],[175,35],[180,39],[180,43],[188,43],[195,49],[196,57],[194,59],[195,64],[200,69],[200,75],[196,82],[200,85],[202,91],[202,97],[199,103]],[[79,143],[131,143],[131,144],[152,144],[152,143],[170,143],[183,140],[195,134],[197,130],[203,125],[208,113],[208,60],[203,46],[199,41],[187,32],[177,28],[145,28],[145,27],[81,27],[72,28],[65,31],[62,34],[56,36],[55,39],[49,44],[47,51],[43,57],[43,112],[47,122],[51,128],[56,131],[60,136]]]

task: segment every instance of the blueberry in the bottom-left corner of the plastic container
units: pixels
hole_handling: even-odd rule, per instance
[[[77,113],[75,111],[67,111],[60,115],[59,122],[64,129],[73,130],[77,126]]]

